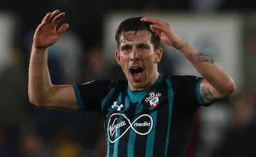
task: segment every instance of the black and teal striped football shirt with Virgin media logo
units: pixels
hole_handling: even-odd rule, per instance
[[[139,92],[131,91],[127,80],[93,80],[74,89],[80,109],[104,117],[107,157],[183,157],[193,115],[205,105],[202,80],[160,75]]]

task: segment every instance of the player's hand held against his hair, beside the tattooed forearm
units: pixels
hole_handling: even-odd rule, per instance
[[[185,43],[180,36],[171,28],[169,23],[160,21],[157,18],[144,17],[141,19],[142,22],[152,23],[150,25],[151,31],[156,33],[161,40],[167,45],[171,45],[174,48],[181,49]]]

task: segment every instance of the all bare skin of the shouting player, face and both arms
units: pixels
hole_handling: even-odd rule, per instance
[[[36,28],[28,68],[28,98],[38,107],[76,110],[79,107],[73,86],[53,85],[47,66],[48,47],[57,42],[68,30],[68,23],[64,23],[60,28],[57,27],[64,16],[65,13],[60,13],[58,10],[47,13]],[[205,60],[205,55],[201,55],[198,50],[182,40],[169,23],[157,18],[146,17],[141,20],[152,23],[151,30],[164,43],[180,50],[204,77],[200,85],[204,102],[212,103],[227,97],[235,90],[233,79],[217,63]],[[146,31],[138,31],[137,36],[132,40],[122,40],[115,52],[115,58],[127,77],[129,88],[134,91],[145,90],[156,82],[159,77],[157,63],[160,62],[162,55],[161,48],[154,50],[149,33]],[[143,72],[132,75],[129,71],[131,67],[142,67]]]

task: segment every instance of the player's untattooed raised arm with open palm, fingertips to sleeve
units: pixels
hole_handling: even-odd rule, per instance
[[[64,23],[57,29],[65,13],[56,10],[48,13],[33,36],[31,58],[28,68],[28,98],[38,107],[78,109],[72,85],[53,85],[48,70],[48,47],[53,45],[68,29]]]

